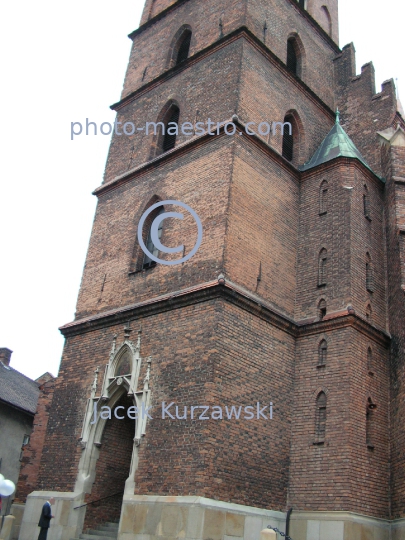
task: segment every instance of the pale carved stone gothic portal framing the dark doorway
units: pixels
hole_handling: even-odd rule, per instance
[[[127,405],[133,405],[141,414],[137,419],[132,419],[132,453],[128,457],[129,474],[125,480],[125,494],[133,494],[135,490],[135,473],[138,466],[138,447],[141,444],[142,436],[146,431],[147,415],[142,414],[142,409],[147,410],[150,402],[149,376],[151,358],[142,359],[140,356],[141,331],[138,332],[136,345],[129,340],[129,333],[125,340],[117,346],[116,336],[110,353],[110,359],[104,369],[102,385],[98,391],[99,368],[95,372],[95,379],[91,389],[90,398],[87,401],[86,412],[83,420],[83,427],[80,442],[83,453],[79,462],[79,471],[75,483],[75,492],[90,494],[96,481],[97,462],[103,445],[103,434],[108,422],[120,420],[114,418],[112,412],[110,420],[100,416],[102,407],[108,407],[111,411],[117,406],[123,406],[124,411],[120,410],[119,415],[127,415]],[[147,362],[146,375],[142,381],[139,380],[142,362]],[[141,383],[141,384],[140,384]],[[138,389],[139,388],[139,389]],[[124,403],[126,405],[124,405]],[[96,413],[96,414],[95,414]],[[135,409],[134,409],[134,416]],[[124,422],[124,420],[122,420]],[[117,429],[118,424],[116,424]],[[126,426],[128,423],[126,422]],[[124,427],[124,424],[122,425]],[[125,430],[124,430],[125,431]],[[111,491],[112,490],[112,491]],[[111,494],[114,487],[110,489]]]

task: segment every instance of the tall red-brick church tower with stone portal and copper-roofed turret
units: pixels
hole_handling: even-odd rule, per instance
[[[130,38],[20,539],[50,492],[50,540],[114,520],[119,540],[258,540],[267,525],[294,540],[405,538],[405,123],[393,81],[376,93],[372,64],[356,75],[338,0],[147,0]],[[212,133],[142,128],[208,119]],[[127,122],[136,134],[117,133]],[[197,213],[203,241],[184,263],[155,264],[138,224],[173,200]],[[142,238],[158,253],[149,229],[162,208],[186,214],[159,237],[187,254],[197,227],[176,205],[153,210]],[[133,406],[152,418],[97,416]],[[191,418],[193,406],[254,413]]]

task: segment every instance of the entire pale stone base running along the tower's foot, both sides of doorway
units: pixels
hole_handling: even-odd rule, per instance
[[[48,540],[79,537],[86,511],[81,507],[84,495],[35,491],[24,508],[19,540],[38,536],[42,505],[50,497],[56,502]],[[268,525],[285,531],[285,522],[284,512],[204,497],[124,495],[118,540],[259,540]],[[294,510],[289,534],[293,540],[405,540],[405,519]]]

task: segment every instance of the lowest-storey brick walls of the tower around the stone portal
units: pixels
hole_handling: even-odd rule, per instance
[[[134,323],[132,326],[136,328]],[[142,356],[152,355],[150,384],[156,409],[139,447],[136,492],[199,494],[283,508],[288,476],[292,336],[219,300],[162,312],[143,319],[142,328]],[[95,366],[108,360],[114,333],[118,333],[120,342],[122,326],[67,340],[49,422],[47,453],[42,460],[41,483],[46,489],[73,488],[80,458],[74,444],[80,436],[84,398]],[[84,377],[73,383],[69,372],[79,365]],[[64,383],[65,378],[69,382]],[[272,421],[161,418],[162,401],[175,401],[180,406],[230,406],[255,405],[257,401],[269,404],[270,400],[275,411]],[[108,425],[111,439],[115,436],[113,423]],[[68,445],[68,440],[73,443]],[[223,449],[219,454],[218,448]],[[114,455],[115,450],[110,453],[111,459]],[[111,492],[110,482],[103,480],[108,480],[109,473],[103,471],[111,464],[109,459],[106,450],[105,459],[97,464],[97,478]],[[92,499],[104,493],[97,482]],[[100,509],[102,514],[102,506]]]

